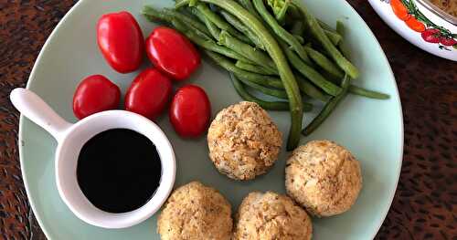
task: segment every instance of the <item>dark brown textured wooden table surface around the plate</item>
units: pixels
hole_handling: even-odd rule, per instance
[[[0,239],[46,238],[27,201],[16,147],[19,115],[8,95],[26,85],[40,48],[76,2],[0,0]],[[457,63],[410,45],[366,0],[349,3],[388,56],[405,120],[399,188],[377,239],[456,240]]]

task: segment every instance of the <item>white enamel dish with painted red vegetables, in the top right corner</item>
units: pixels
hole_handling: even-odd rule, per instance
[[[456,17],[446,14],[428,0],[403,0],[402,2],[408,5],[406,7],[409,15],[418,19],[425,27],[425,31],[429,31],[424,33],[425,31],[411,29],[405,21],[396,16],[390,0],[368,0],[368,2],[390,28],[411,44],[438,57],[457,61]],[[433,35],[436,37],[430,37],[430,31],[435,31]],[[441,37],[446,41],[437,39]]]

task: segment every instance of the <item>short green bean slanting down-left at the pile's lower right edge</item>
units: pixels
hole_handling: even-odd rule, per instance
[[[345,79],[343,80],[342,83],[342,88],[343,91],[333,99],[330,99],[327,104],[325,104],[324,109],[317,115],[311,123],[304,128],[302,131],[302,134],[304,136],[308,136],[311,133],[313,133],[314,130],[316,130],[319,126],[321,126],[322,123],[324,123],[324,120],[330,116],[330,114],[335,110],[336,106],[341,102],[342,99],[345,98],[347,95],[347,89],[349,88],[351,84],[351,78],[349,78],[347,75],[345,75]]]

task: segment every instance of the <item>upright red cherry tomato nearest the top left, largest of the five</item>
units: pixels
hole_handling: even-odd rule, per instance
[[[133,72],[143,60],[144,37],[135,18],[128,12],[101,16],[97,42],[103,57],[120,73]]]

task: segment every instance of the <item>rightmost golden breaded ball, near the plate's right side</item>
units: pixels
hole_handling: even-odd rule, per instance
[[[360,163],[332,141],[310,141],[297,148],[285,173],[289,196],[318,217],[349,210],[362,188]]]

